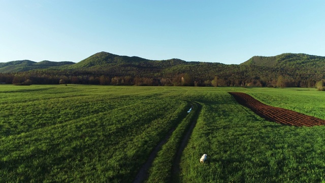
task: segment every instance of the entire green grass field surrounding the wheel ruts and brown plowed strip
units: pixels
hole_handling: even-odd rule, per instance
[[[313,88],[1,85],[0,182],[132,182],[175,129],[147,180],[170,182],[193,102],[202,109],[174,181],[325,179],[325,127],[266,121],[228,92],[325,119],[325,95]]]

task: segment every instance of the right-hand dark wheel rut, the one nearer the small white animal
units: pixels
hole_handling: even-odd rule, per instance
[[[187,145],[187,142],[189,140],[189,137],[191,136],[194,127],[197,125],[198,117],[201,112],[201,104],[197,102],[193,102],[198,109],[196,110],[194,117],[191,121],[191,124],[189,128],[187,129],[186,134],[183,136],[182,142],[177,150],[176,157],[174,160],[173,168],[172,168],[172,182],[179,182],[179,173],[180,173],[180,162],[181,162],[181,156],[183,154],[184,148]]]

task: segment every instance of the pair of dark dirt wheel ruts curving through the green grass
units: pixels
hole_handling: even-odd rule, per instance
[[[200,109],[201,109],[201,105],[198,104],[198,103],[195,103],[195,104],[198,107],[198,110],[196,110],[196,114],[195,114],[195,116],[197,116]],[[196,118],[196,117],[194,117],[194,118]],[[184,147],[185,147],[185,145],[186,145],[186,143],[187,143],[187,141],[189,139],[189,136],[190,136],[195,124],[196,124],[196,119],[191,122],[191,125],[190,125],[187,133],[185,134],[185,136],[182,139],[182,143],[181,143],[180,148],[179,148],[179,150],[177,152],[177,155],[176,155],[176,159],[179,159],[179,161],[180,161],[180,156],[181,156],[181,154],[183,152],[183,149],[184,149]],[[176,128],[172,128],[171,130],[169,130],[166,137],[162,141],[160,141],[156,145],[156,147],[152,150],[151,154],[149,155],[149,158],[148,158],[147,162],[141,167],[141,169],[138,172],[138,174],[137,174],[135,180],[133,181],[133,183],[141,183],[141,182],[143,182],[144,180],[147,179],[148,170],[150,169],[150,167],[152,165],[152,162],[154,161],[155,157],[157,156],[158,151],[161,149],[161,146],[163,146],[168,141],[168,139],[171,137],[171,135],[172,135],[172,133],[174,132],[175,129]],[[182,150],[180,151],[180,149],[182,149]],[[179,158],[178,158],[178,156],[179,156]],[[179,167],[179,163],[178,163],[177,168],[178,167]],[[174,169],[175,168],[173,167],[173,172],[175,172],[175,171],[179,172],[179,168],[177,170],[174,170]]]

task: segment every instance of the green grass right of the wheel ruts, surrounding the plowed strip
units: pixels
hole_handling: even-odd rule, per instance
[[[301,105],[296,98],[300,91],[294,89],[237,90],[258,96],[269,94],[292,106]],[[322,93],[315,90],[304,94],[324,100]],[[296,128],[265,121],[238,105],[225,89],[214,94],[206,91],[204,96],[201,101],[211,103],[203,105],[198,124],[184,150],[183,182],[320,182],[325,178],[325,145],[322,143],[325,127]],[[312,105],[312,101],[303,101],[305,106]],[[314,110],[321,112],[322,108]],[[208,161],[200,164],[203,154],[208,155]]]

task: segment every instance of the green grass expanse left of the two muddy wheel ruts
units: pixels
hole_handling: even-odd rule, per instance
[[[159,98],[160,88],[8,86],[0,92],[4,181],[132,181],[188,108]]]

